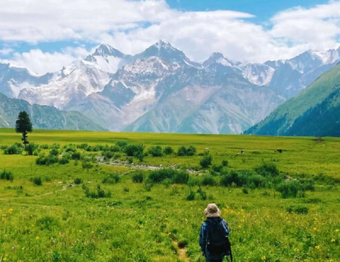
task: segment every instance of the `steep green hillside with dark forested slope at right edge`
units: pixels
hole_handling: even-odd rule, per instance
[[[245,134],[340,137],[340,64]]]

